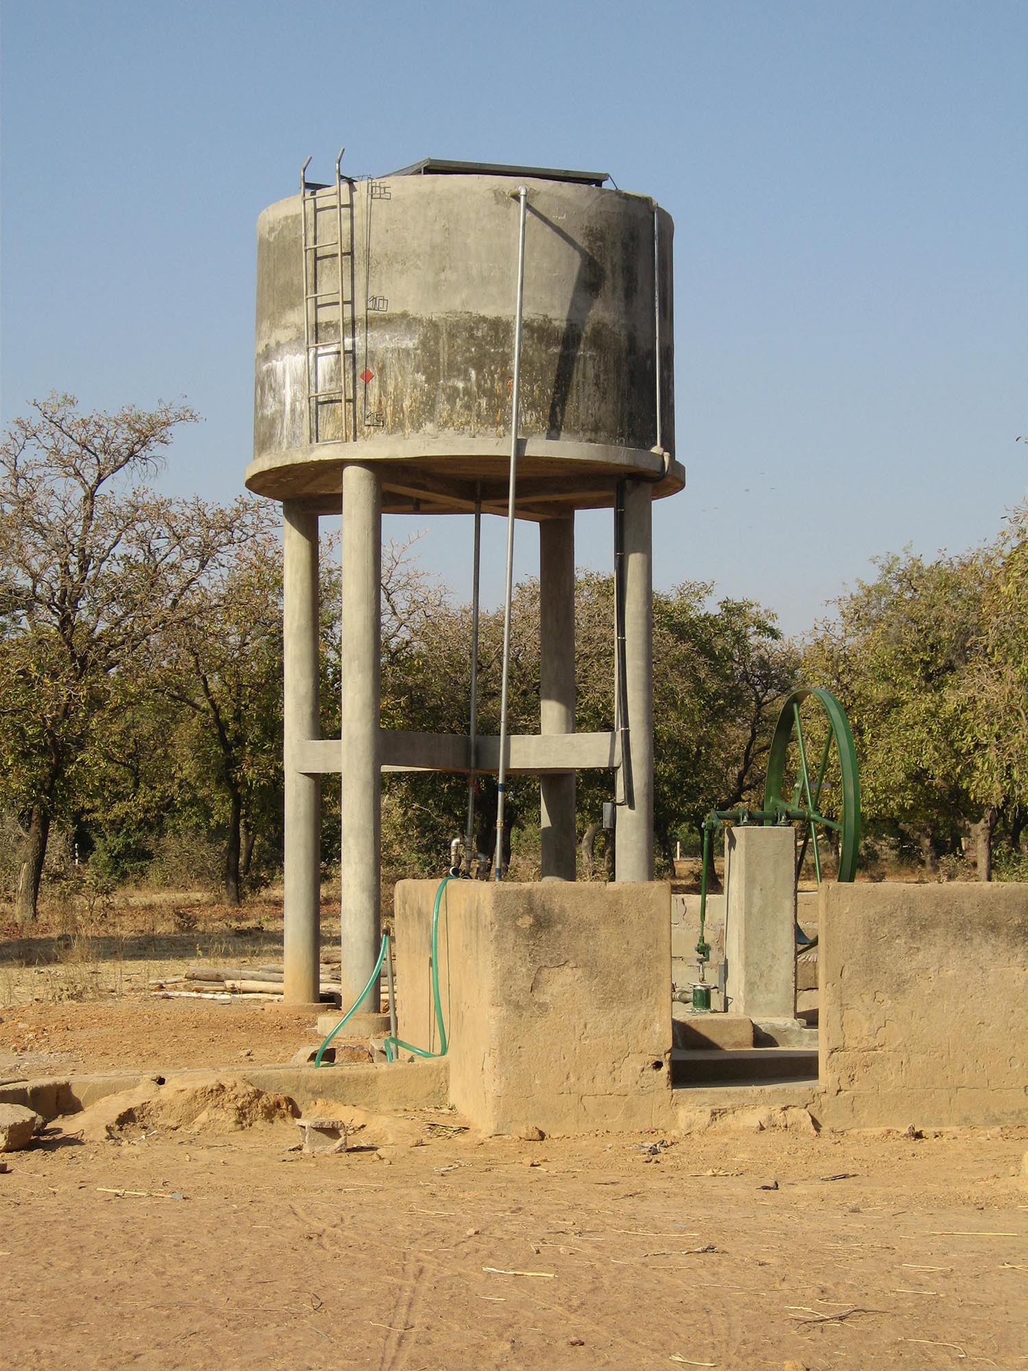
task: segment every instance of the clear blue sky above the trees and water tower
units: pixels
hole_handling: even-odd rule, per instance
[[[354,174],[602,167],[672,213],[688,488],[658,506],[659,585],[713,580],[800,631],[872,555],[969,547],[1024,498],[1024,0],[0,12],[5,421],[53,388],[185,395],[206,424],[164,485],[232,498],[255,219],[345,144]],[[580,562],[609,568],[609,524],[581,520]],[[470,520],[422,526],[466,594]]]

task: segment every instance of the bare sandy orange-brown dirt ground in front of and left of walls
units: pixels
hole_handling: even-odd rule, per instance
[[[255,958],[266,932],[248,935]],[[221,954],[223,931],[133,936],[117,983],[111,961],[49,956],[44,935],[30,956],[0,947],[0,1079],[238,1073],[315,1041],[310,1015],[277,1006],[144,998],[197,939]],[[352,1150],[310,1157],[288,1119],[158,1119],[103,1141],[85,1115],[59,1120],[0,1175],[4,1363],[1028,1371],[1028,1130],[459,1127],[371,1119]]]

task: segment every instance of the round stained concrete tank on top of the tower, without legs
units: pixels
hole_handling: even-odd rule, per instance
[[[329,511],[343,463],[382,462],[385,511],[477,487],[506,511],[524,184],[518,513],[610,505],[624,477],[678,491],[670,217],[585,174],[441,166],[260,215],[247,485]]]

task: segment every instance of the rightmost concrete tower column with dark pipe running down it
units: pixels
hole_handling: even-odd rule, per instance
[[[625,481],[625,691],[631,776],[614,829],[615,880],[654,879],[652,487]],[[624,765],[624,762],[622,762]]]

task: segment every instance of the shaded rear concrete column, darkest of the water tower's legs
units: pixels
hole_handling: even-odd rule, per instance
[[[574,732],[574,514],[539,525],[539,729]],[[574,772],[541,776],[543,876],[574,880]]]

